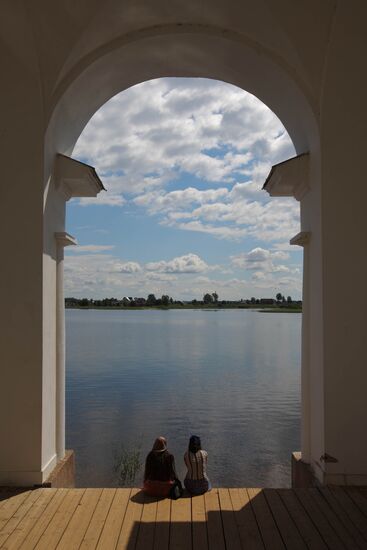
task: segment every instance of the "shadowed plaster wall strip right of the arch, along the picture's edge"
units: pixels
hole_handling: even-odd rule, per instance
[[[367,476],[366,20],[365,2],[339,3],[321,103],[325,449],[339,460],[327,471],[356,483]]]

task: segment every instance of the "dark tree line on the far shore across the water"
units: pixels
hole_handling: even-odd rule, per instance
[[[180,308],[180,307],[256,307],[256,306],[273,306],[277,308],[301,308],[301,300],[293,300],[291,296],[287,298],[278,292],[275,298],[255,298],[240,299],[240,300],[219,300],[217,292],[204,294],[202,300],[174,300],[168,294],[163,294],[160,298],[156,298],[154,294],[149,294],[147,298],[124,296],[118,298],[65,298],[66,308]]]

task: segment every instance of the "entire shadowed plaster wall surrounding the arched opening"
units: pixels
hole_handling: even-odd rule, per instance
[[[40,481],[55,458],[54,232],[64,230],[49,186],[55,153],[71,153],[112,95],[159,76],[236,84],[274,110],[298,152],[311,152],[302,229],[312,232],[312,463],[321,480],[324,469],[367,474],[366,18],[363,0],[3,2],[0,484],[10,470]],[[324,452],[339,463],[318,469]]]

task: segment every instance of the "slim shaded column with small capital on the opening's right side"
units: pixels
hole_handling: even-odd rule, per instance
[[[301,355],[301,454],[302,462],[310,463],[310,296],[309,296],[309,247],[310,233],[298,233],[290,244],[303,246],[303,295],[302,295],[302,355]]]

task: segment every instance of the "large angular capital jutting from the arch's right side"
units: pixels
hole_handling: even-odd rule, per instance
[[[294,197],[300,201],[310,189],[309,164],[309,153],[275,164],[263,189],[271,197]]]

